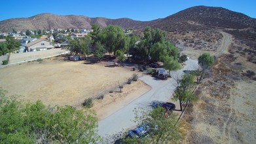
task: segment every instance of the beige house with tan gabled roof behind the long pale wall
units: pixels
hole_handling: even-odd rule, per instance
[[[54,46],[52,45],[52,42],[47,41],[46,39],[37,39],[28,43],[25,48],[27,52],[33,52],[38,50],[49,50],[54,48]]]

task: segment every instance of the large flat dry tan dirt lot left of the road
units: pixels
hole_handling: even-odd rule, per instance
[[[105,67],[106,64],[64,62],[62,57],[22,63],[0,69],[0,86],[10,95],[24,96],[26,101],[41,99],[46,105],[77,105],[110,86],[126,82],[134,73],[130,67]],[[143,82],[138,84],[148,90]]]

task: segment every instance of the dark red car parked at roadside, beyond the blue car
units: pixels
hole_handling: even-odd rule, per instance
[[[163,107],[164,109],[166,109],[166,111],[164,111],[164,115],[166,117],[168,117],[172,113],[172,111],[175,110],[174,103],[162,102],[162,101],[153,101],[151,103],[151,107],[153,107],[154,109],[156,109],[157,107]]]

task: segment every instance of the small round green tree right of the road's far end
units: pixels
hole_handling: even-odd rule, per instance
[[[174,60],[172,56],[168,56],[164,59],[164,69],[169,70],[169,77],[170,77],[170,71],[177,71],[181,68],[181,65],[177,60]]]

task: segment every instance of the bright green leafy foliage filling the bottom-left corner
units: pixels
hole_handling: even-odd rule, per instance
[[[22,105],[0,89],[0,143],[100,143],[96,114],[71,106]]]

